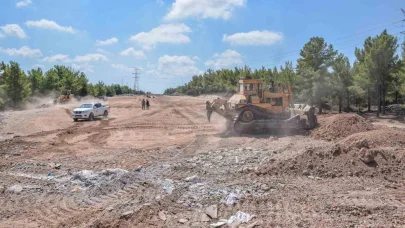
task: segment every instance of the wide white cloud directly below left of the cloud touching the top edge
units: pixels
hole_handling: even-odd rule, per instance
[[[185,24],[163,24],[149,32],[141,32],[129,38],[137,42],[143,49],[151,49],[158,43],[180,44],[189,43],[190,38],[185,33],[192,32]]]

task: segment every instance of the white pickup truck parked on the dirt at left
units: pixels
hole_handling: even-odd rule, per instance
[[[110,107],[101,103],[84,103],[79,108],[73,109],[72,118],[74,121],[79,119],[94,120],[94,117],[108,116]]]

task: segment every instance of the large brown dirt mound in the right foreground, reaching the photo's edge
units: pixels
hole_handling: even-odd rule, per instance
[[[287,160],[270,160],[257,174],[292,174],[308,178],[342,176],[404,178],[405,131],[381,128],[350,135],[337,143],[306,147]]]

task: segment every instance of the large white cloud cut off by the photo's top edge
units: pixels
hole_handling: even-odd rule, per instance
[[[229,19],[236,7],[242,7],[247,0],[176,0],[165,16],[166,20],[194,18]]]

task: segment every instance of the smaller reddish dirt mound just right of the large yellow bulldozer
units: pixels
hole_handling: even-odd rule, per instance
[[[357,114],[337,114],[318,117],[319,127],[311,136],[323,140],[339,140],[351,134],[374,130],[375,127]]]

